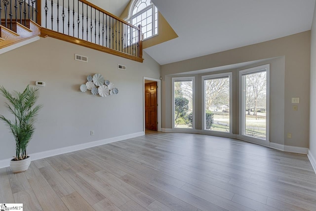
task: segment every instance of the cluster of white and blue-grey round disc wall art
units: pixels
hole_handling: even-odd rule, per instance
[[[109,80],[104,80],[101,74],[87,76],[87,82],[80,85],[80,91],[86,92],[88,90],[93,95],[101,97],[118,94],[118,88],[114,87],[114,84]]]

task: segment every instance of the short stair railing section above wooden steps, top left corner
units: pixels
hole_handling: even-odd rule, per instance
[[[13,22],[24,26],[28,19],[40,25],[40,0],[0,0],[0,25],[13,30]]]

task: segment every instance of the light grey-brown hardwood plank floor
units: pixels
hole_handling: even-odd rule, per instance
[[[229,138],[159,133],[58,155],[13,174],[0,203],[24,211],[316,211],[306,155]]]

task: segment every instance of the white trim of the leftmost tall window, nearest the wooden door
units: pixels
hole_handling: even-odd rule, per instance
[[[192,109],[192,128],[176,128],[174,125],[174,82],[177,81],[192,81],[192,100],[193,100],[193,109]],[[196,116],[195,116],[195,77],[176,77],[176,78],[172,78],[172,130],[195,130],[196,128]]]

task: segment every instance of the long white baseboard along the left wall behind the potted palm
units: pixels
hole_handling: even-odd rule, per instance
[[[112,137],[112,138],[106,138],[106,139],[98,140],[98,141],[87,142],[87,143],[78,144],[78,145],[69,146],[69,147],[48,150],[44,152],[32,153],[32,154],[29,154],[29,156],[31,157],[32,161],[36,161],[42,158],[47,158],[47,157],[51,157],[55,155],[68,153],[68,152],[74,152],[81,149],[100,146],[103,144],[109,144],[116,141],[121,141],[121,140],[129,139],[129,138],[135,138],[142,135],[145,135],[144,131],[127,134],[127,135],[121,135],[121,136]],[[0,169],[10,166],[10,160],[11,159],[0,160]]]

